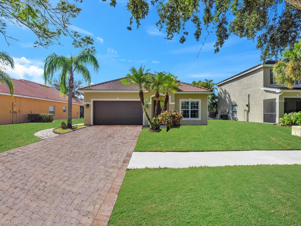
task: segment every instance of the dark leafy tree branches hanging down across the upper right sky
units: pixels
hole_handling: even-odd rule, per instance
[[[106,0],[103,0],[106,1]],[[180,35],[184,43],[190,33],[199,41],[202,28],[205,34],[216,33],[215,52],[224,45],[230,34],[257,41],[261,59],[278,58],[287,47],[292,48],[300,38],[301,1],[299,0],[151,0],[157,7],[159,20],[156,25],[166,33],[166,39]],[[127,10],[131,13],[128,30],[135,21],[139,28],[141,20],[149,13],[146,0],[129,0]],[[110,0],[116,6],[116,0]],[[186,25],[192,23],[191,32]]]

